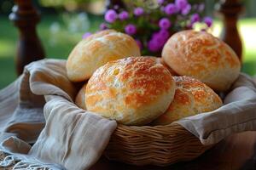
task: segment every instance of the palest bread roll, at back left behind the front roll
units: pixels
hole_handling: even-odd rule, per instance
[[[97,32],[73,48],[67,59],[67,77],[73,82],[82,82],[108,61],[129,56],[140,56],[132,37],[113,30]]]

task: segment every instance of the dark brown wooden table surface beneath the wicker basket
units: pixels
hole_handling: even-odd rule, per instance
[[[179,162],[169,167],[137,167],[108,161],[105,157],[90,170],[167,170],[167,169],[256,169],[256,132],[236,133],[207,150],[194,161]]]

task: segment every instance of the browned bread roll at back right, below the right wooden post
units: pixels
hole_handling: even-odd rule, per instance
[[[195,77],[217,91],[230,88],[241,64],[233,49],[205,31],[180,31],[166,42],[162,57],[178,75]]]

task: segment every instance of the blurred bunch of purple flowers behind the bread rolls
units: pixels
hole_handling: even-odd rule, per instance
[[[212,19],[204,16],[202,1],[136,0],[124,1],[124,4],[125,7],[113,5],[106,11],[100,29],[131,35],[143,55],[159,55],[174,32],[193,29],[196,23],[202,23],[204,31],[212,26]]]

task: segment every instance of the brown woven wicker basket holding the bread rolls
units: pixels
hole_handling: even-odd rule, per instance
[[[113,133],[105,156],[109,160],[133,165],[167,166],[189,161],[209,149],[179,124],[155,127],[119,125]]]

